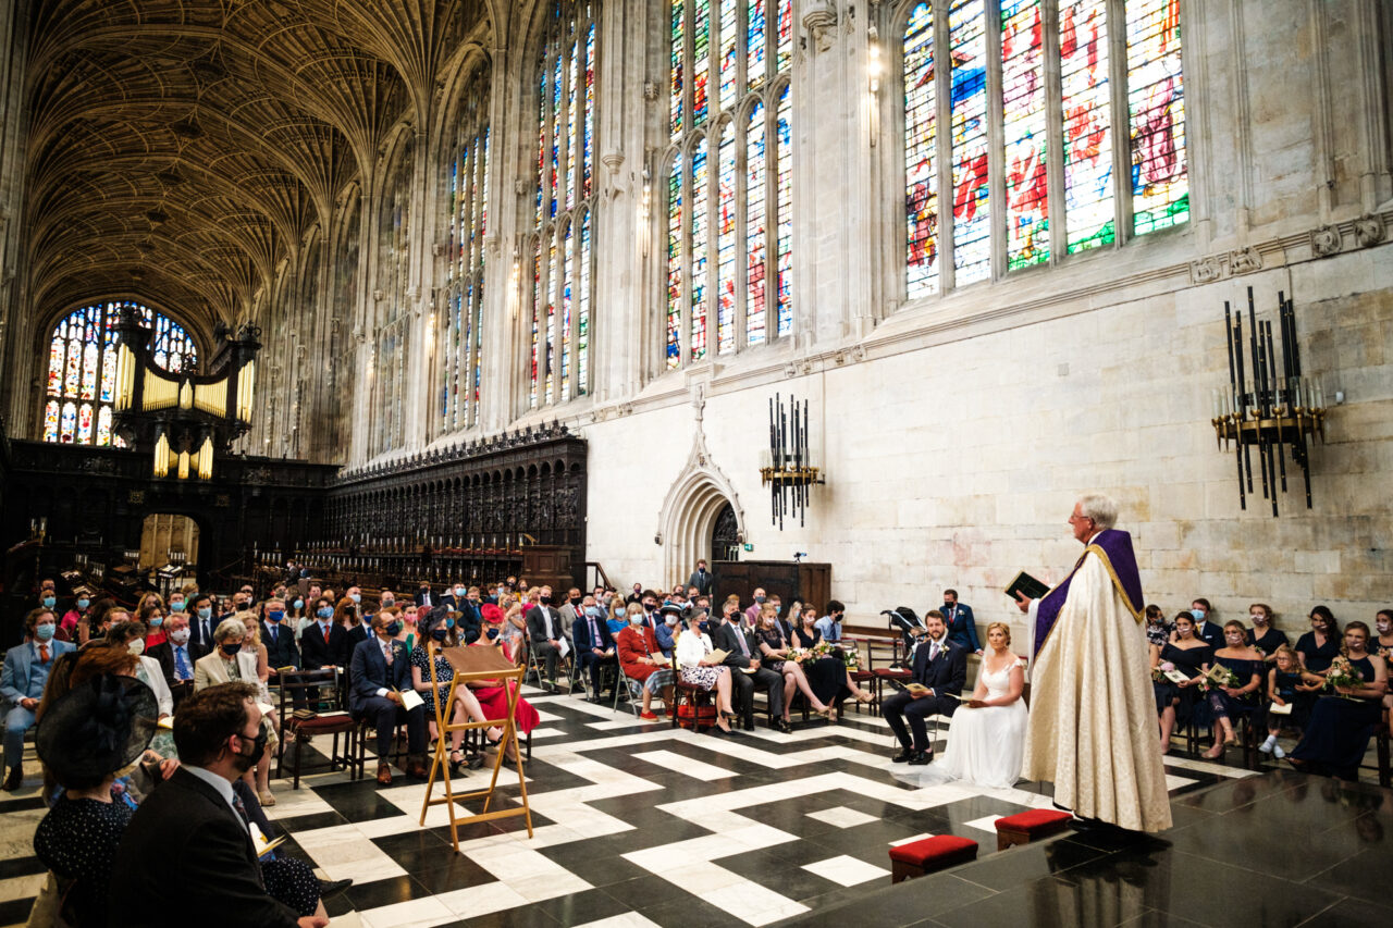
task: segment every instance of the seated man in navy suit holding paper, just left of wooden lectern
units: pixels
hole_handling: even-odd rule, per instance
[[[411,680],[407,648],[394,641],[397,631],[391,616],[372,617],[372,638],[358,642],[348,670],[348,711],[352,718],[366,720],[378,729],[378,782],[391,784],[391,740],[397,726],[407,726],[407,776],[426,778],[426,713],[425,705],[407,709],[401,704],[401,688]]]

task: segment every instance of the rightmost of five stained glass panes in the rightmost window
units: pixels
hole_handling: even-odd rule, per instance
[[[1133,231],[1190,219],[1180,0],[1127,3],[1127,114],[1131,124]]]

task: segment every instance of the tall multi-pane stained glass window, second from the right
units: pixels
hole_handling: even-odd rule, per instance
[[[666,361],[793,330],[793,0],[670,0]]]

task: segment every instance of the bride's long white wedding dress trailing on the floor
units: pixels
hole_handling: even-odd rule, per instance
[[[1017,658],[996,673],[983,667],[986,698],[1006,695],[1011,688],[1011,670],[1024,666],[1025,662]],[[928,766],[903,769],[896,765],[892,772],[896,779],[918,786],[963,780],[976,786],[1010,789],[1021,778],[1028,718],[1024,699],[979,709],[970,709],[964,699],[953,713],[949,745],[942,758]]]

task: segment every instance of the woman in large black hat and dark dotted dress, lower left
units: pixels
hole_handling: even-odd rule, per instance
[[[134,804],[111,794],[117,771],[155,734],[155,694],[134,677],[102,674],[45,711],[39,759],[63,789],[33,833],[33,851],[57,879],[68,925],[107,924],[107,883]]]

